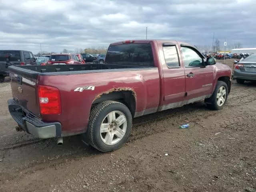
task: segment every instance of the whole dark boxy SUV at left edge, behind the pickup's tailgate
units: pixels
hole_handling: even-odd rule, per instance
[[[0,50],[0,82],[9,76],[8,66],[11,65],[35,65],[36,60],[30,51]]]

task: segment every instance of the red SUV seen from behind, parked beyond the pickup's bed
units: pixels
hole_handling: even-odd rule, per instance
[[[52,54],[47,65],[63,65],[63,64],[82,64],[83,60],[79,59],[75,53]]]

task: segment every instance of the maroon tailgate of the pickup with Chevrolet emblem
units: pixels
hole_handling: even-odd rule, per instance
[[[40,114],[36,78],[10,68],[12,97],[21,106],[38,116]]]

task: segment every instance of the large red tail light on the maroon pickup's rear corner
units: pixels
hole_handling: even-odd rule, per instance
[[[40,114],[61,114],[60,91],[52,86],[38,86]]]

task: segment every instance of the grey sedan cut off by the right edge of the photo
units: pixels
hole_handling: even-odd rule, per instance
[[[245,80],[256,81],[256,55],[250,55],[237,62],[233,77],[239,84],[244,83]]]

